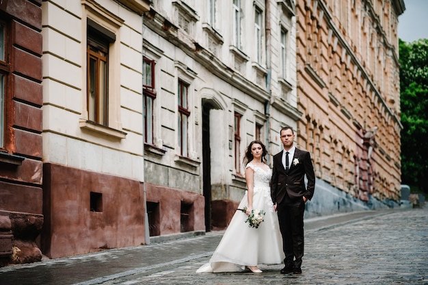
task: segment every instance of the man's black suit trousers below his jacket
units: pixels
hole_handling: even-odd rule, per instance
[[[282,234],[282,247],[286,267],[300,268],[304,254],[304,212],[305,203],[286,201],[277,206],[278,220]]]

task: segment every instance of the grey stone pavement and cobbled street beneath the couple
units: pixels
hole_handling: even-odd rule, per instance
[[[428,207],[305,221],[301,275],[196,273],[223,232],[0,268],[1,285],[428,284]],[[237,237],[239,238],[239,237]]]

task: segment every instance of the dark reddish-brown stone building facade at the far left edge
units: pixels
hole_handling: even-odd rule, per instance
[[[42,258],[41,29],[41,1],[1,1],[0,266]]]

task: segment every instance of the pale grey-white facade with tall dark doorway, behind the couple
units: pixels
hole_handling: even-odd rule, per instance
[[[224,229],[245,147],[297,127],[293,1],[153,1],[144,17],[150,236]]]

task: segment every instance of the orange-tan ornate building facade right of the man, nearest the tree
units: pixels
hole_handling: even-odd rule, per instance
[[[296,8],[298,142],[313,153],[322,197],[308,210],[398,202],[403,1],[300,0]]]

